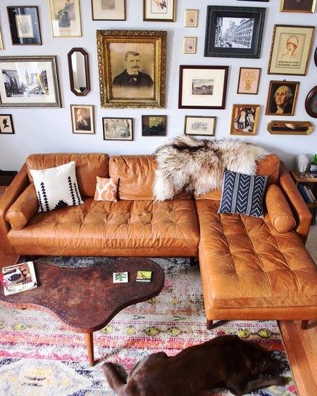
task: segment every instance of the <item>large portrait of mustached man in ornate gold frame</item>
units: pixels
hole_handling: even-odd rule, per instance
[[[166,32],[97,30],[103,108],[165,106]]]

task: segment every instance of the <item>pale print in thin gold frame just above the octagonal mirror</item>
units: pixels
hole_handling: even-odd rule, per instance
[[[80,0],[49,0],[53,37],[81,37]]]

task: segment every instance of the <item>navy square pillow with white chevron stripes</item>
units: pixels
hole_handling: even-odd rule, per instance
[[[267,176],[250,176],[226,170],[218,213],[263,217],[263,195],[267,181]]]

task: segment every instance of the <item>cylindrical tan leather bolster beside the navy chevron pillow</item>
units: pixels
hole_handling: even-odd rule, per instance
[[[266,191],[266,208],[276,231],[284,233],[296,226],[290,205],[276,184],[271,184]]]

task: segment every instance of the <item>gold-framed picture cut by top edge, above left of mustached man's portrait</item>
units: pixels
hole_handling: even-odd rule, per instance
[[[92,20],[125,20],[125,0],[92,0]]]

